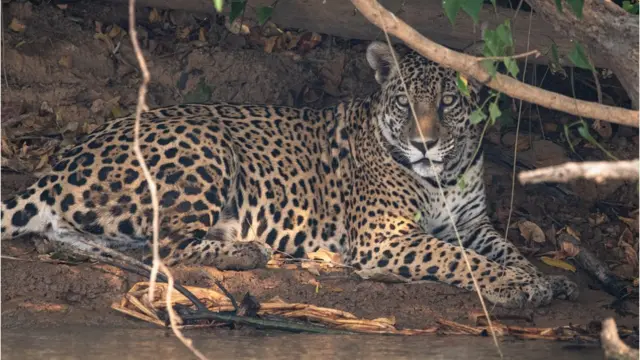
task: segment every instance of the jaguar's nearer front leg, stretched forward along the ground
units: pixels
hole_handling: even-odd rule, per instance
[[[504,267],[475,251],[438,240],[419,230],[394,235],[379,244],[371,260],[356,266],[399,275],[407,280],[430,280],[473,290],[471,273],[462,257],[466,252],[482,296],[508,308],[541,306],[553,298],[549,281],[516,267]],[[364,264],[363,264],[364,263]]]

